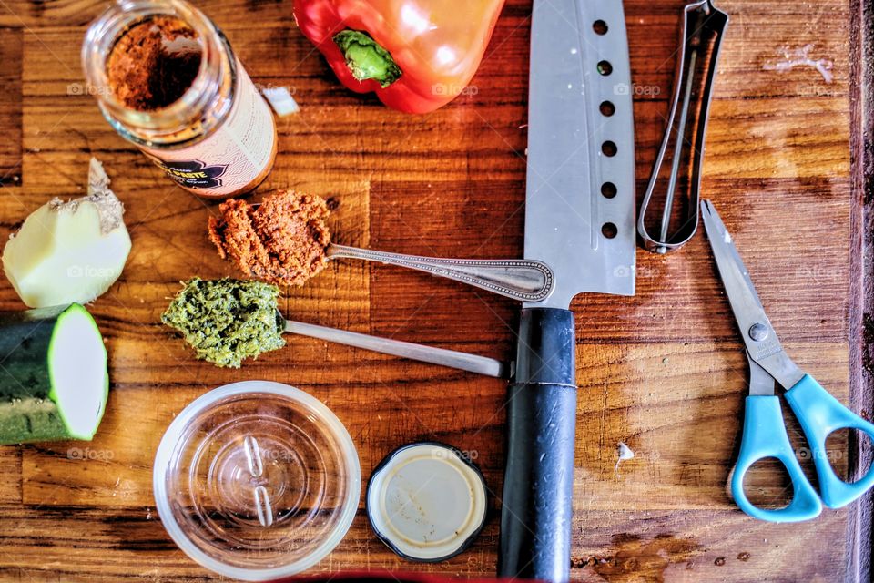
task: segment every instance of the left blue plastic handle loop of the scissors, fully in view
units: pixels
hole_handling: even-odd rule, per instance
[[[753,506],[744,492],[744,475],[761,459],[776,457],[786,467],[792,482],[792,501],[785,508],[767,510]],[[768,522],[800,522],[816,518],[822,504],[808,478],[804,476],[795,451],[786,435],[780,401],[776,396],[747,397],[744,435],[740,440],[737,465],[731,476],[731,494],[740,509],[749,516]]]

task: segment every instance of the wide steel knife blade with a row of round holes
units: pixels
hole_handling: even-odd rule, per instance
[[[621,0],[534,0],[525,258],[553,268],[542,302],[635,292],[635,156]]]

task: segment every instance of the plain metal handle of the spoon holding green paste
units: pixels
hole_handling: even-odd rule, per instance
[[[279,310],[276,311],[277,322],[285,327],[285,332],[318,338],[331,343],[346,344],[356,348],[363,348],[377,353],[401,356],[422,363],[440,364],[450,368],[457,368],[470,373],[484,374],[496,378],[506,379],[511,375],[512,366],[508,363],[479,356],[477,354],[459,353],[445,348],[435,348],[423,344],[405,343],[400,340],[391,340],[370,334],[349,332],[338,328],[318,326],[304,322],[286,320]]]

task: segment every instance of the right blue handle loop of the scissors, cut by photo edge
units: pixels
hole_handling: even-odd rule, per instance
[[[817,466],[819,492],[826,506],[847,506],[874,486],[874,466],[858,482],[849,484],[835,474],[826,450],[826,437],[838,429],[859,429],[874,440],[874,424],[850,411],[809,374],[786,392],[786,400],[808,438]]]

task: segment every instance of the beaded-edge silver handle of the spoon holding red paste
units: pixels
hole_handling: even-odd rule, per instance
[[[351,258],[424,271],[449,280],[461,281],[489,292],[519,300],[540,302],[553,291],[553,271],[542,261],[527,259],[445,259],[372,251],[336,245],[328,247],[331,259]]]

